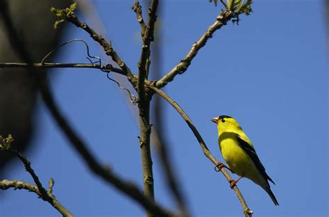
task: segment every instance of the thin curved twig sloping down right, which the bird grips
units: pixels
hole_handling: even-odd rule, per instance
[[[183,111],[183,109],[180,108],[180,106],[176,102],[174,102],[174,100],[171,99],[165,92],[163,92],[162,90],[153,86],[152,83],[149,83],[149,88],[154,90],[155,93],[158,93],[158,95],[160,95],[163,99],[165,99],[167,102],[169,102],[169,104],[171,104],[171,106],[173,106],[174,109],[176,109],[176,111],[178,111],[178,113],[182,116],[182,118],[185,120],[185,122],[187,122],[187,125],[192,130],[196,139],[199,141],[199,144],[200,144],[201,149],[203,150],[203,153],[205,154],[205,156],[207,156],[208,159],[210,159],[210,161],[212,161],[212,163],[214,163],[214,165],[217,165],[219,163],[219,161],[217,161],[217,159],[210,153],[210,150],[208,149],[207,145],[205,145],[205,142],[203,141],[203,138],[199,134],[199,131],[196,129],[196,127],[192,123],[192,120],[187,116],[185,111]],[[230,181],[232,179],[232,177],[230,177],[230,175],[228,174],[228,172],[226,171],[225,168],[221,168],[221,172],[223,173],[224,177],[226,177],[226,179],[228,181]],[[251,215],[253,214],[253,211],[251,211],[251,209],[248,208],[248,205],[246,204],[246,201],[244,200],[242,193],[239,191],[239,188],[237,188],[237,186],[235,185],[233,187],[233,189],[235,191],[235,194],[237,195],[237,198],[239,199],[239,201],[242,205],[242,209],[244,210],[244,215],[246,217],[251,217]]]

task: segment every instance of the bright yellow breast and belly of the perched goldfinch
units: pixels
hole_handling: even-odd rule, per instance
[[[219,148],[228,167],[239,176],[255,179],[258,170],[235,137],[219,136]],[[253,180],[254,182],[256,180]]]

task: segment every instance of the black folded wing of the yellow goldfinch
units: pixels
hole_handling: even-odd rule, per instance
[[[258,158],[253,146],[249,145],[249,143],[247,143],[245,140],[243,140],[238,134],[236,134],[236,138],[237,138],[237,141],[238,141],[240,147],[242,147],[242,149],[248,154],[248,156],[250,156],[251,160],[253,161],[253,163],[255,163],[256,168],[258,168],[258,170],[260,171],[262,176],[265,179],[268,179],[273,184],[275,184],[273,182],[273,180],[271,179],[271,177],[269,177],[269,175],[267,175],[267,173],[265,172],[265,168],[262,165],[262,162],[260,162],[260,159]]]

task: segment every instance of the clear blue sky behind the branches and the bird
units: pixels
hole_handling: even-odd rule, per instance
[[[133,1],[94,1],[121,58],[137,72],[139,24]],[[164,1],[162,17],[165,74],[187,54],[214,22],[220,7],[208,1]],[[144,7],[145,9],[146,7]],[[145,15],[144,11],[144,15]],[[199,129],[222,161],[217,127],[210,119],[238,120],[276,186],[279,207],[248,179],[238,186],[255,216],[328,216],[328,74],[323,1],[255,1],[239,26],[228,23],[199,51],[185,74],[164,89]],[[82,38],[92,55],[99,45],[71,26],[65,40]],[[57,62],[85,62],[85,47],[69,45]],[[74,128],[103,163],[142,187],[139,131],[125,93],[96,70],[53,70],[53,92]],[[152,72],[151,72],[152,73]],[[124,83],[123,83],[124,85]],[[241,216],[239,202],[223,175],[214,172],[185,121],[165,106],[172,161],[194,216]],[[94,177],[76,156],[43,104],[37,109],[38,136],[27,154],[44,184],[76,216],[144,216],[132,200]],[[175,204],[153,152],[155,198]],[[236,177],[235,175],[233,175]],[[8,179],[32,182],[21,165]],[[17,209],[19,204],[19,209]],[[25,191],[6,192],[0,216],[58,216],[49,204]]]

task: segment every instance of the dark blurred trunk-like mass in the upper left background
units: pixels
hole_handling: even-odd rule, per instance
[[[9,14],[15,31],[24,40],[35,63],[40,63],[48,51],[60,41],[63,28],[54,30],[56,16],[50,12],[51,6],[66,8],[70,0],[10,0]],[[22,62],[10,47],[6,28],[0,19],[0,62]],[[46,72],[47,70],[42,70]],[[37,88],[31,74],[26,69],[0,68],[0,135],[12,134],[13,147],[19,152],[31,150],[31,140],[35,132],[35,111]],[[5,170],[10,166],[11,157],[0,153],[0,179],[6,178]]]

